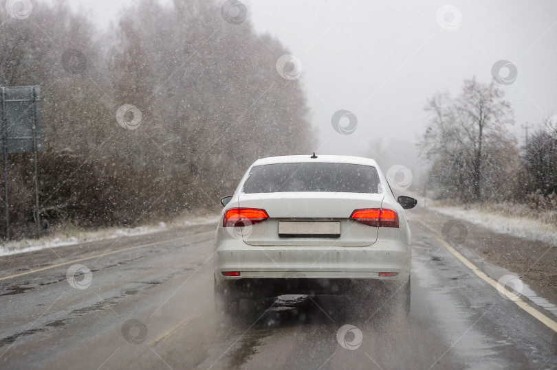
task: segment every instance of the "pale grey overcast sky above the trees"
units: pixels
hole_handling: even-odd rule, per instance
[[[131,0],[71,3],[106,25]],[[369,155],[381,137],[415,142],[424,130],[427,97],[456,95],[472,76],[490,82],[498,60],[518,72],[500,86],[515,113],[510,130],[521,142],[526,122],[540,126],[557,115],[555,0],[244,3],[256,31],[279,38],[301,62],[312,124],[320,132],[318,152]],[[351,135],[331,124],[340,109],[358,120]]]

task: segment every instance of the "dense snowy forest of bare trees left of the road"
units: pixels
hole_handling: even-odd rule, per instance
[[[255,159],[311,148],[300,82],[276,73],[288,52],[249,19],[210,1],[142,0],[99,30],[54,4],[3,12],[0,33],[0,86],[41,86],[43,227],[212,208]],[[12,235],[32,235],[32,155],[8,159]]]

